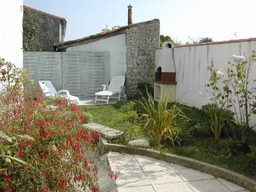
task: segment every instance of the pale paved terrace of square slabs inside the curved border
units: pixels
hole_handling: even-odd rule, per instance
[[[129,154],[107,155],[119,192],[229,192],[243,187],[178,164]]]

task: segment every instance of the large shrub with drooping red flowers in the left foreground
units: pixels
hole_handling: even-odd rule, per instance
[[[0,63],[0,191],[99,191],[97,166],[84,156],[96,150],[99,135],[79,123],[81,110],[22,89],[22,70]]]

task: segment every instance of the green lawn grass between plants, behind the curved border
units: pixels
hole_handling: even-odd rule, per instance
[[[131,127],[131,123],[120,121],[118,118],[122,105],[123,102],[118,102],[109,105],[84,105],[80,106],[80,108],[93,115],[93,122],[125,131],[125,129]],[[207,118],[202,111],[196,108],[184,106],[183,112],[189,119],[194,121]],[[183,126],[186,127],[189,124],[184,123]],[[151,146],[154,146],[150,134],[146,135],[145,133],[141,137],[150,141]],[[160,150],[221,166],[256,180],[256,133],[252,133],[250,144],[252,153],[227,158],[220,155],[218,143],[214,136],[206,134],[189,138],[188,143],[183,146],[172,147],[170,143],[165,143],[161,146]]]

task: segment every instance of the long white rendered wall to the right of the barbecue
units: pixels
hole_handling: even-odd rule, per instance
[[[233,54],[249,56],[256,50],[256,39],[248,41],[197,46],[174,47],[176,68],[176,100],[188,106],[201,108],[210,102],[208,96],[202,97],[199,92],[205,90],[205,84],[210,78],[207,67],[213,61],[217,69],[225,69]],[[251,79],[256,78],[256,63],[253,64]],[[256,123],[256,116],[251,118],[251,124]]]

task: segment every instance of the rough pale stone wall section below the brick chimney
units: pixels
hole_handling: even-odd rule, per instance
[[[154,83],[155,51],[159,48],[159,19],[132,24],[126,29],[126,93],[135,96],[140,82]]]

